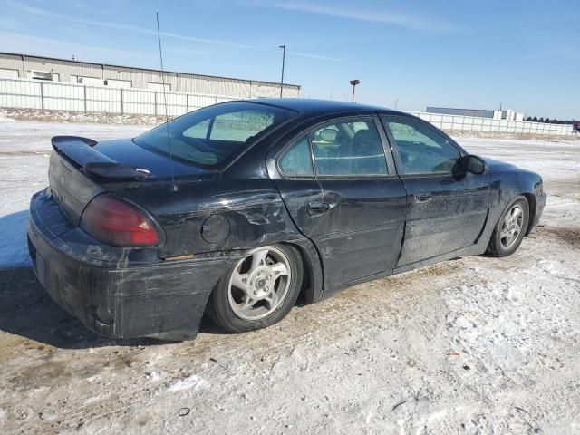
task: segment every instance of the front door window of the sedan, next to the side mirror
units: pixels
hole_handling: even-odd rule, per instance
[[[460,154],[449,140],[417,121],[400,118],[386,121],[397,142],[401,174],[451,172]]]

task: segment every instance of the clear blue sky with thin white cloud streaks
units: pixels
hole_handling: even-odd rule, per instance
[[[578,0],[0,0],[0,51],[285,81],[306,98],[580,119]]]

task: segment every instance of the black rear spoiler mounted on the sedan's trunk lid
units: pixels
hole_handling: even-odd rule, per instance
[[[103,179],[146,179],[150,176],[148,169],[117,163],[92,148],[98,143],[96,140],[79,136],[54,136],[51,141],[59,155],[72,160],[87,176]]]

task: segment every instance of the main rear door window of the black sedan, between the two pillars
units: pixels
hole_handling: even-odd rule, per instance
[[[372,120],[336,121],[310,132],[316,175],[387,175],[382,141]]]

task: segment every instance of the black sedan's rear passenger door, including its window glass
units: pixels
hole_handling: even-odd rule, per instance
[[[401,252],[406,198],[376,117],[314,127],[281,155],[278,168],[285,204],[323,258],[325,292],[391,271]]]

